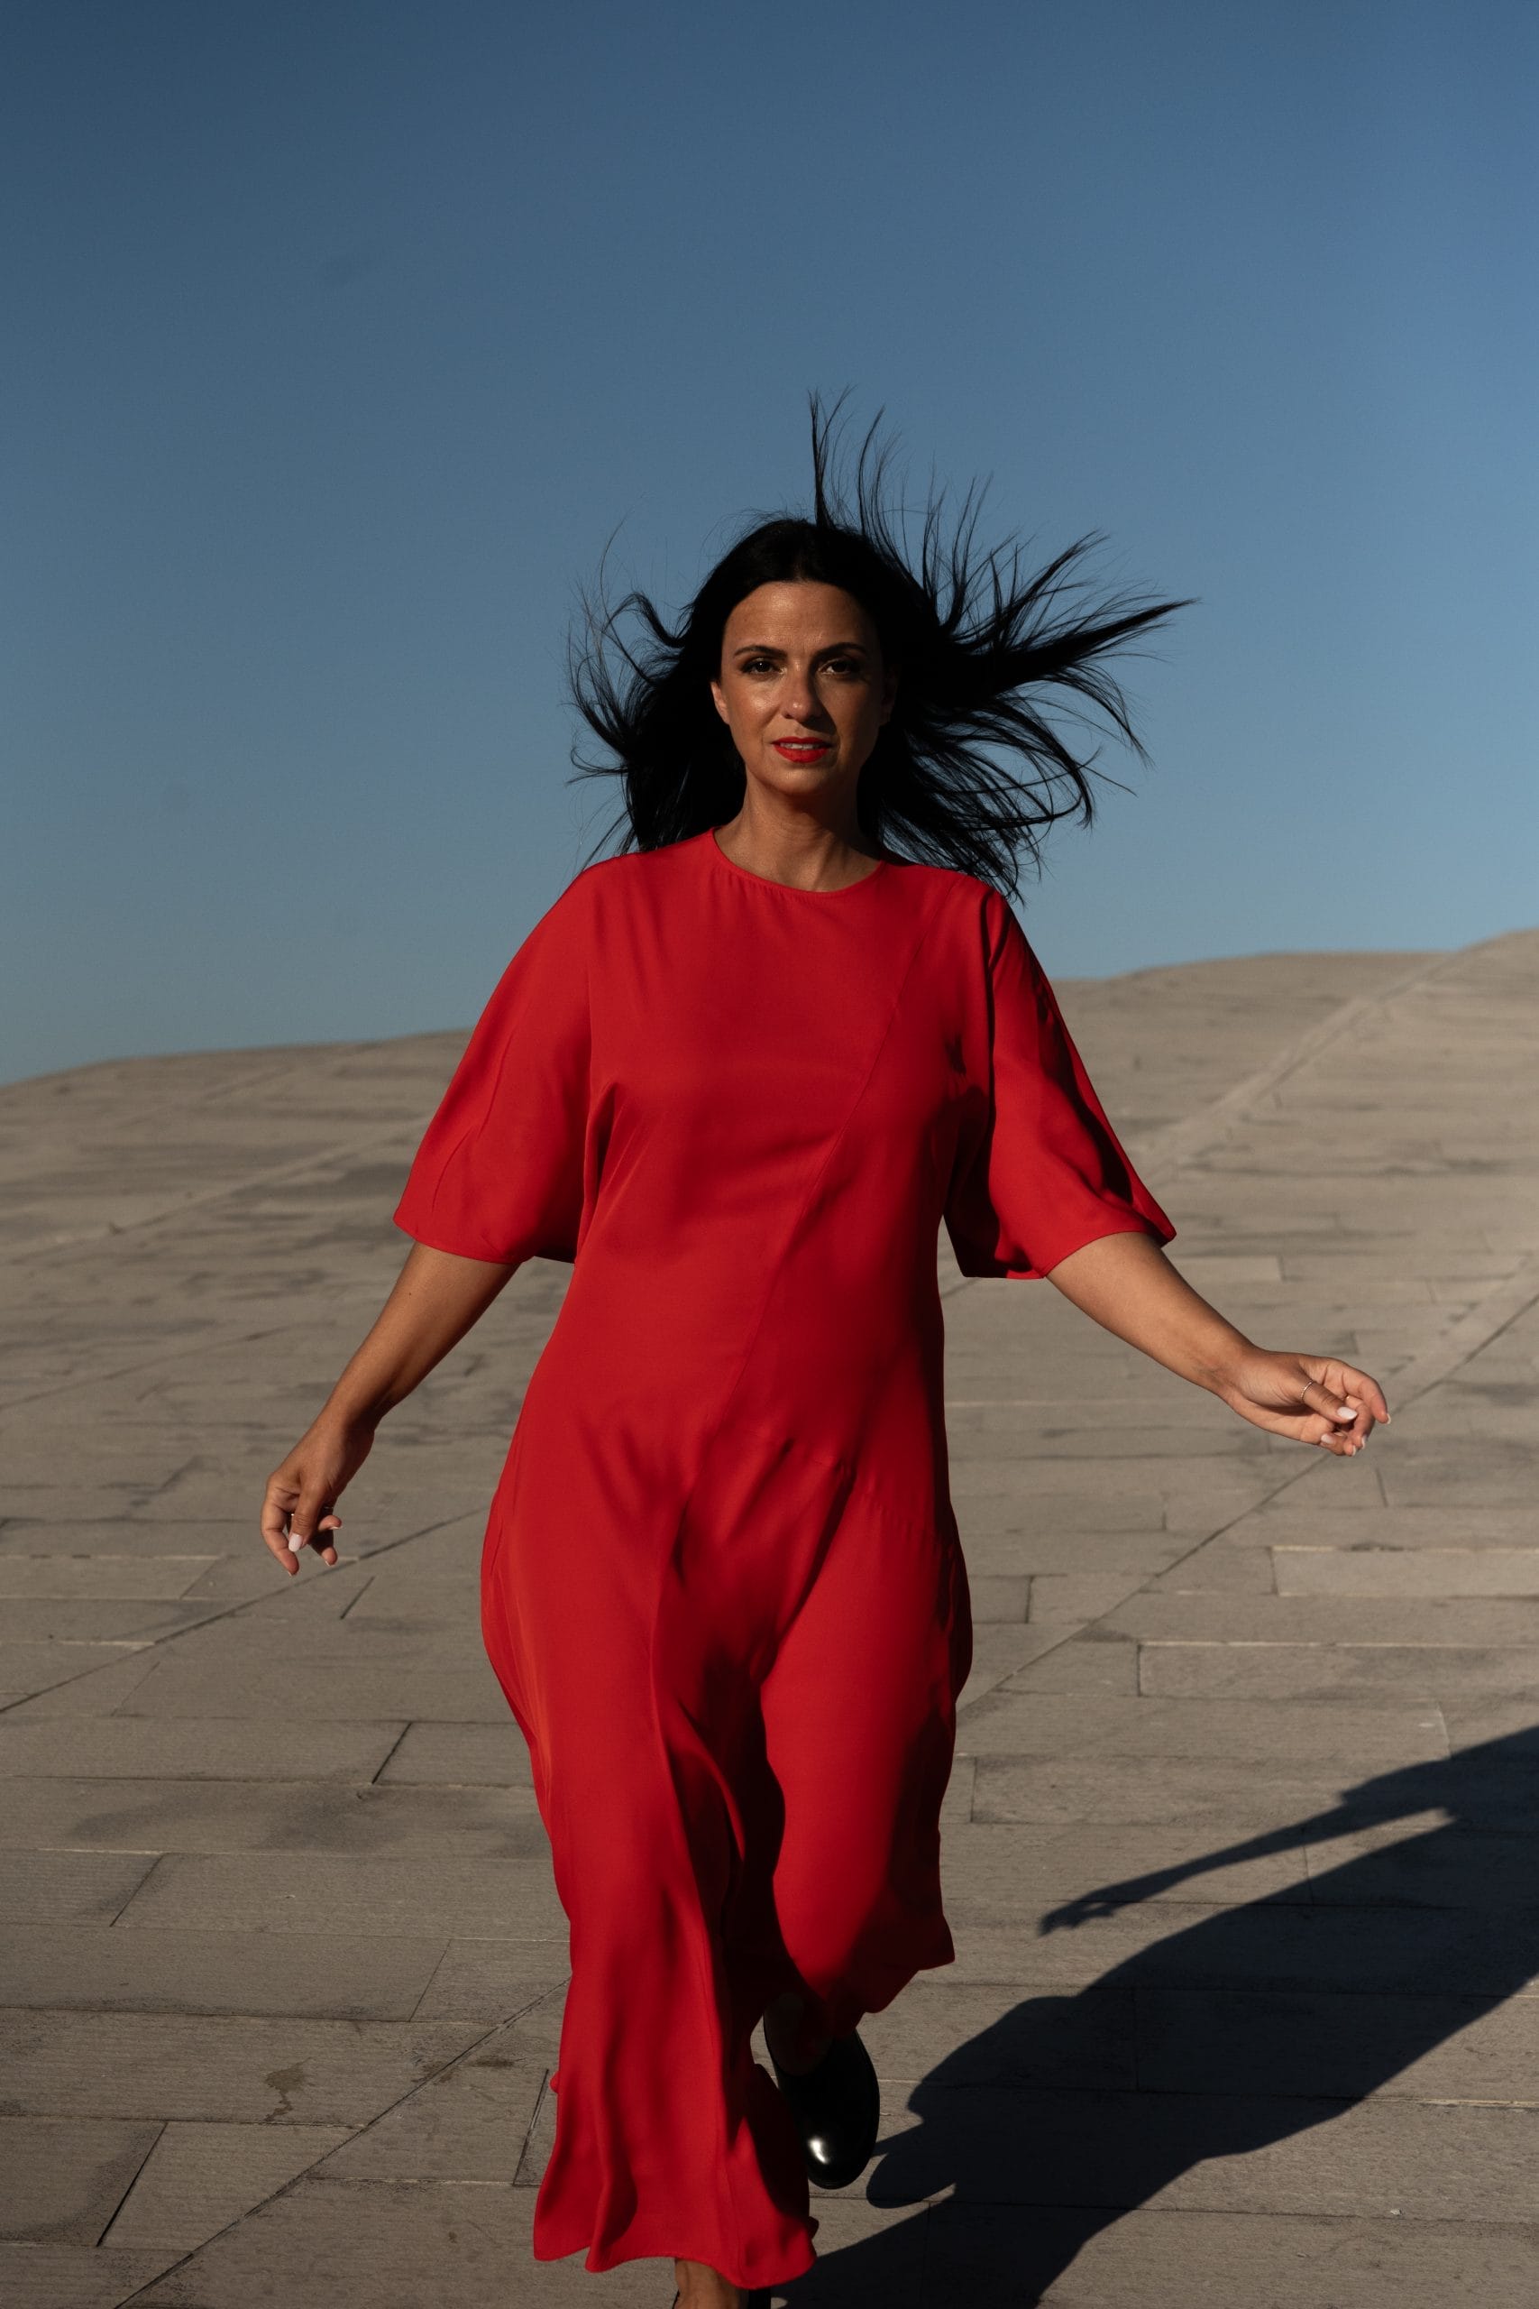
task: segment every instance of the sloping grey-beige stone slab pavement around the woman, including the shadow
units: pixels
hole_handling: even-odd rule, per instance
[[[1539,2297],[1539,933],[1064,986],[1357,1462],[946,1265],[978,1658],[958,1963],[796,2309]],[[256,1540],[383,1298],[455,1037],[0,1090],[12,2309],[665,2309],[528,2258],[563,1926],[475,1561],[565,1270],[381,1432],[337,1570]]]

